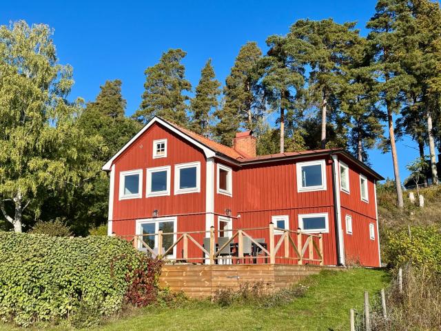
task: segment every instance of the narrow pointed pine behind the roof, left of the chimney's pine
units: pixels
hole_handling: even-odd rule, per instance
[[[212,60],[209,59],[201,71],[196,96],[191,101],[192,130],[204,137],[209,136],[212,110],[218,107],[220,83],[215,77]]]

